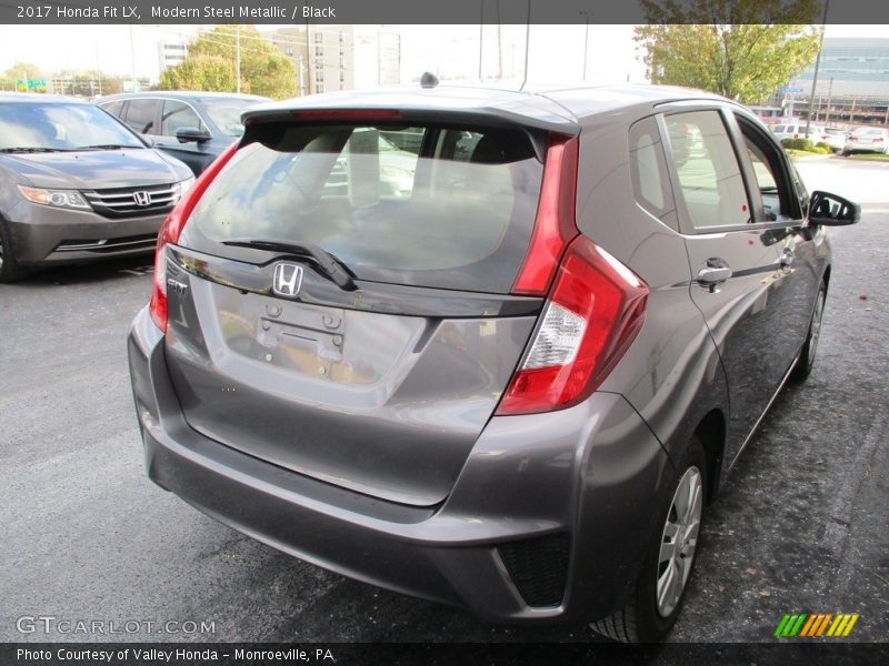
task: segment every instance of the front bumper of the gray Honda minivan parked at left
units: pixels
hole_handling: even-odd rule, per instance
[[[112,220],[92,211],[22,202],[7,224],[19,264],[63,264],[152,252],[164,218]]]

